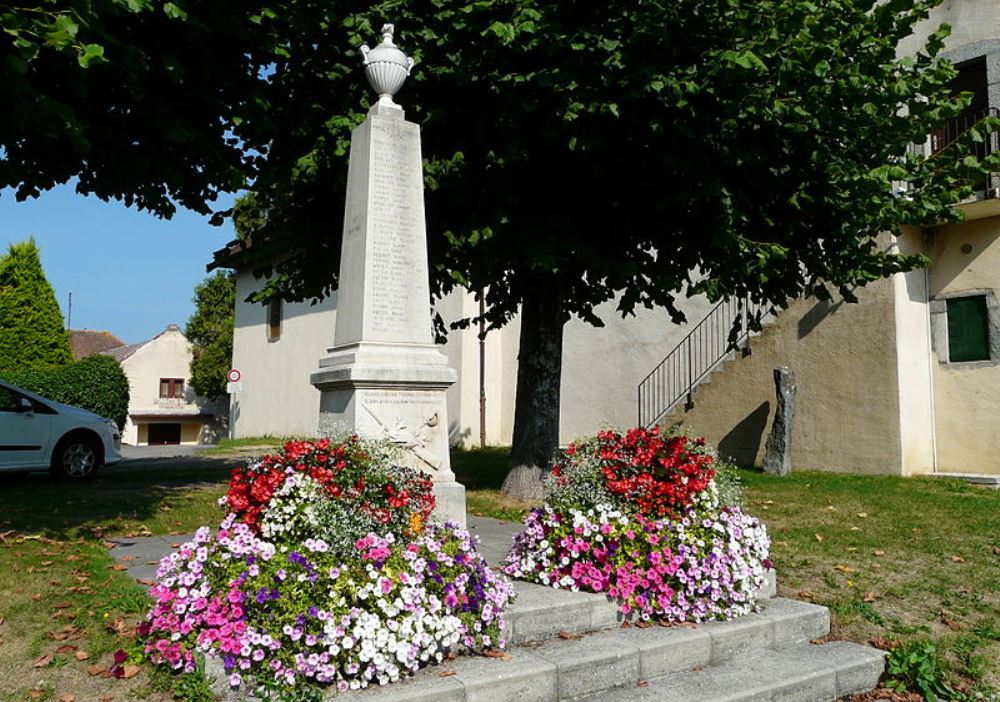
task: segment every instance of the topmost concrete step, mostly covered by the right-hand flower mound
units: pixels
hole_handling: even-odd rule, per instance
[[[570,592],[517,582],[517,599],[507,614],[507,640],[513,644],[544,641],[560,634],[581,634],[620,626],[618,605],[604,595]],[[774,571],[758,592],[760,601],[774,597]]]

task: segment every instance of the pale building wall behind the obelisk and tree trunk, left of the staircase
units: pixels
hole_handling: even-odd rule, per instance
[[[260,289],[249,272],[236,278],[233,366],[243,375],[233,408],[235,436],[313,436],[319,391],[309,375],[333,344],[337,296],[316,304],[284,303],[281,336],[268,341],[266,309],[245,302]],[[639,310],[622,319],[615,303],[602,305],[602,328],[579,320],[566,328],[561,389],[560,441],[593,433],[601,425],[636,422],[636,386],[687,333],[662,309]],[[682,301],[692,323],[711,308],[705,300]],[[478,314],[475,297],[455,291],[436,304],[446,324]],[[486,442],[509,444],[513,435],[520,321],[488,332],[485,343]],[[451,331],[443,347],[459,381],[448,391],[453,444],[480,441],[480,346],[478,329]]]

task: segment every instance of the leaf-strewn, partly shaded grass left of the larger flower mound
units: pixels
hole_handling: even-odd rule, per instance
[[[150,460],[84,485],[0,475],[0,700],[173,699],[145,672],[102,677],[147,608],[105,540],[216,521],[230,465]]]

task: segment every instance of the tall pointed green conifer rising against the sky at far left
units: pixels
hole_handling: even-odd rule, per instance
[[[35,240],[11,244],[0,259],[0,369],[47,368],[72,360],[69,332]]]

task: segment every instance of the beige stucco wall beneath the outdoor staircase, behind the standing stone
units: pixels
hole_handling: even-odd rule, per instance
[[[724,364],[667,424],[704,435],[743,464],[760,463],[774,415],[773,371],[798,383],[792,463],[798,468],[902,473],[895,283],[858,291],[859,302],[799,300]]]

